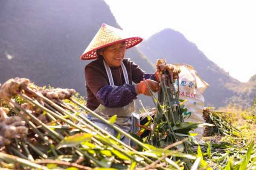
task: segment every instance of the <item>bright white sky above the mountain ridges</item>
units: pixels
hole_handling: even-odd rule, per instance
[[[117,23],[145,39],[172,28],[194,42],[230,76],[256,74],[254,0],[105,0]],[[161,56],[159,56],[161,57]]]

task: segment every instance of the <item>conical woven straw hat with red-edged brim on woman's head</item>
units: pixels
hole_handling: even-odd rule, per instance
[[[132,37],[121,29],[114,28],[103,23],[93,40],[81,55],[80,59],[96,59],[98,57],[96,50],[108,45],[125,41],[125,48],[128,49],[139,44],[142,40],[143,39],[141,37]]]

